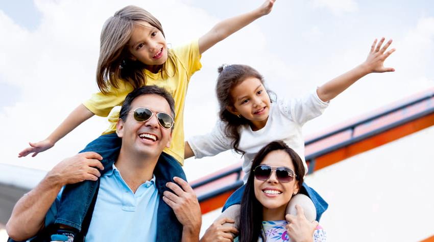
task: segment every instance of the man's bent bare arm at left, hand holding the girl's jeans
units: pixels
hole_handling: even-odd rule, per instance
[[[66,184],[84,180],[97,180],[104,167],[103,157],[95,152],[84,152],[64,159],[42,181],[15,204],[11,218],[6,224],[8,235],[21,241],[34,236],[44,227],[45,214]]]

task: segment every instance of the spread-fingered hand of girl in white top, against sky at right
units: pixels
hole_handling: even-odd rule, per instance
[[[371,51],[369,52],[368,58],[366,59],[363,65],[368,69],[369,73],[371,72],[389,72],[395,71],[394,68],[384,67],[384,60],[388,58],[391,53],[395,51],[395,48],[392,48],[385,52],[387,48],[389,48],[392,40],[389,40],[383,47],[381,45],[384,42],[384,37],[381,38],[380,42],[377,44],[377,39],[372,43]],[[377,44],[377,45],[376,45]]]

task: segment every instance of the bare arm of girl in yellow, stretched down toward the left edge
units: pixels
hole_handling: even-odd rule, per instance
[[[93,116],[83,104],[80,104],[72,113],[66,117],[66,119],[51,133],[45,140],[32,143],[29,142],[30,147],[22,150],[18,153],[18,157],[26,156],[33,153],[32,157],[35,157],[39,152],[50,149],[60,139],[62,139],[67,133],[75,129],[81,123]]]

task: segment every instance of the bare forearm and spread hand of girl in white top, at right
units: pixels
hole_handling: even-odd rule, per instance
[[[381,38],[378,44],[377,40],[375,39],[366,61],[358,65],[354,69],[335,77],[334,79],[319,87],[317,89],[318,97],[321,100],[328,102],[340,93],[342,93],[345,89],[350,87],[358,79],[369,73],[395,71],[395,69],[391,67],[383,66],[384,60],[387,59],[391,55],[391,53],[395,51],[394,48],[386,51],[387,48],[391,45],[392,40],[389,40],[383,47],[381,47],[383,42],[384,38]]]

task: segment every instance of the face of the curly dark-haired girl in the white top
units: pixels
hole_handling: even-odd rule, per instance
[[[230,91],[233,106],[227,109],[251,123],[252,130],[263,128],[270,113],[270,96],[260,79],[248,77]]]

